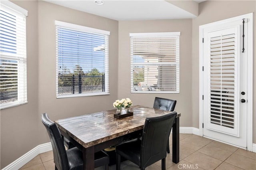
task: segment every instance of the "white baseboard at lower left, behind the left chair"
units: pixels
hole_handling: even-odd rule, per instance
[[[8,166],[4,167],[2,170],[18,170],[38,154],[48,152],[52,150],[51,142],[40,144],[33,148],[32,150],[28,151],[26,154],[20,156],[20,158],[14,160]]]

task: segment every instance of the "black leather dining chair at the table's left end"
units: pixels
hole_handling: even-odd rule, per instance
[[[47,113],[41,115],[41,120],[52,143],[55,170],[82,170],[82,152],[77,147],[65,150],[60,130],[57,125],[49,119]],[[105,166],[105,170],[108,170],[108,155],[103,151],[96,152],[94,155],[95,168]]]

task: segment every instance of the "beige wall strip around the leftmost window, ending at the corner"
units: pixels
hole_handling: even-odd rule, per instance
[[[15,1],[28,10],[27,23],[27,79],[28,103],[2,109],[1,122],[1,169],[38,144],[38,27],[37,2]]]

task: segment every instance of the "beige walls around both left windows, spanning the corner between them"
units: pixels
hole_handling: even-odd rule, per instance
[[[112,109],[117,98],[117,21],[44,1],[13,2],[28,10],[28,104],[1,110],[1,169],[50,141],[40,121],[42,113],[52,120],[93,113]],[[55,20],[110,31],[110,95],[56,99]]]

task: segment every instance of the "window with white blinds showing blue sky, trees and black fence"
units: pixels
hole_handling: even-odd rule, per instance
[[[107,95],[110,32],[56,21],[57,98]]]

